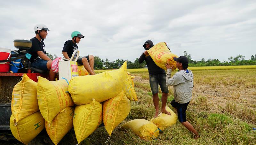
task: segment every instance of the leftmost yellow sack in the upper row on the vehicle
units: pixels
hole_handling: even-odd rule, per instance
[[[22,80],[18,82],[12,91],[12,115],[17,122],[28,115],[39,111],[36,94],[36,82],[23,74]]]

